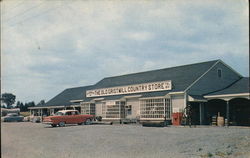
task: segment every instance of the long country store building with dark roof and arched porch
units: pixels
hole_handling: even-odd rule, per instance
[[[119,121],[173,122],[187,114],[192,124],[211,124],[220,115],[230,125],[250,125],[249,77],[221,60],[107,77],[95,85],[68,88],[44,106],[30,107],[32,115],[52,115],[62,109]]]

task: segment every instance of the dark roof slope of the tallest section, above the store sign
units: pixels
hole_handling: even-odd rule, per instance
[[[172,91],[184,91],[190,84],[203,75],[219,60],[183,65],[153,71],[139,72],[121,76],[107,77],[93,86],[94,89],[123,85],[149,83],[171,80],[174,88]]]

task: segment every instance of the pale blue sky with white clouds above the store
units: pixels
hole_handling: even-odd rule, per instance
[[[247,0],[3,0],[1,92],[37,103],[104,77],[215,59],[249,76],[248,19]]]

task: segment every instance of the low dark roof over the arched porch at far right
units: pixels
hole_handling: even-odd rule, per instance
[[[214,92],[214,93],[209,93],[206,96],[249,93],[249,89],[250,89],[249,77],[243,77],[240,80],[238,80],[236,83],[230,85],[229,87],[227,87],[223,90]]]

